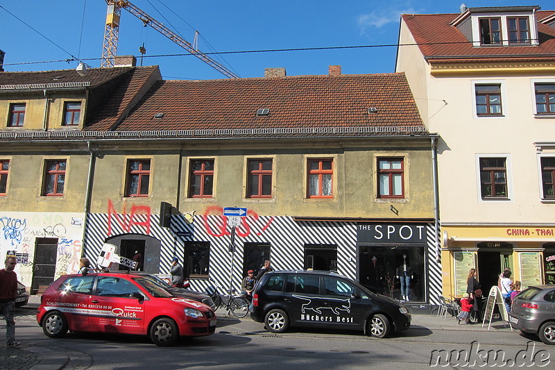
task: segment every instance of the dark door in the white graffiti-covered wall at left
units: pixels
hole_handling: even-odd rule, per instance
[[[56,275],[56,253],[58,253],[58,238],[37,237],[35,246],[35,260],[33,261],[33,281],[31,294],[43,291],[54,281]]]

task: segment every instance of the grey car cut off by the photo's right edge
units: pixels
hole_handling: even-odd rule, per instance
[[[535,285],[520,292],[511,303],[509,320],[522,333],[555,344],[555,285]]]

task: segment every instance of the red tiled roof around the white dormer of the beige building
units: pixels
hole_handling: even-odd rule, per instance
[[[553,10],[539,10],[536,19],[545,19]],[[426,58],[452,57],[471,59],[473,56],[488,58],[555,58],[555,29],[538,22],[538,46],[523,47],[472,47],[455,26],[451,26],[460,14],[402,15],[420,51]]]

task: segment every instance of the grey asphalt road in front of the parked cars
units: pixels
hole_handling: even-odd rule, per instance
[[[42,333],[32,315],[17,317],[17,339],[25,348],[47,348],[66,355],[64,369],[429,369],[436,367],[484,369],[504,362],[553,369],[555,348],[518,331],[482,330],[476,326],[440,328],[433,317],[413,316],[413,328],[387,339],[369,338],[361,333],[330,333],[292,330],[275,335],[250,319],[219,319],[216,334],[185,339],[171,348],[157,347],[146,337],[68,333],[62,339],[50,339]],[[451,318],[450,318],[451,319]],[[437,321],[441,323],[442,321]],[[445,321],[452,323],[452,321]],[[433,327],[433,329],[427,328]],[[466,330],[465,330],[466,329]],[[469,330],[470,329],[470,330]],[[472,344],[474,342],[474,344]],[[447,350],[449,352],[437,352]],[[433,351],[436,351],[435,353]],[[462,354],[456,360],[454,354]],[[464,358],[477,360],[469,366]],[[492,351],[489,354],[488,352]],[[493,351],[503,358],[493,359]],[[480,357],[480,355],[482,357]],[[443,357],[442,357],[443,356]],[[546,358],[547,356],[547,358]],[[519,362],[520,361],[520,362]],[[479,366],[483,364],[484,366]],[[513,366],[515,367],[515,366]],[[528,367],[528,366],[525,366]],[[0,364],[0,369],[3,367]],[[56,369],[52,367],[44,369]]]

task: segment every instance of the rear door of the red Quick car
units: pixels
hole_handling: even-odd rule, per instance
[[[63,312],[70,330],[87,331],[89,330],[87,308],[93,283],[94,276],[71,276],[60,285],[62,294],[58,294],[57,301],[46,301],[45,305]]]

